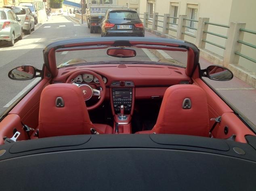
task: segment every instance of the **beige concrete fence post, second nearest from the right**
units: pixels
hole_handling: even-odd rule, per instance
[[[208,24],[205,24],[205,22],[209,22],[210,18],[199,18],[198,25],[197,25],[197,33],[195,38],[195,45],[198,48],[205,48],[206,43],[202,41],[202,39],[206,39],[207,33],[204,33],[203,31],[208,31]]]

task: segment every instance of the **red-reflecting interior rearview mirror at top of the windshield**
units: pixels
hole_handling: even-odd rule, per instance
[[[117,58],[130,58],[136,56],[136,51],[128,48],[109,48],[107,49],[107,55]]]

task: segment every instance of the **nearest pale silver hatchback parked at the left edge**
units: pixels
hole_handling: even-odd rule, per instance
[[[0,40],[14,45],[15,39],[22,39],[22,25],[18,16],[8,8],[0,8]]]

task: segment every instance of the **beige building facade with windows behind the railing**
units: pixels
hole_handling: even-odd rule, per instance
[[[245,28],[256,31],[256,0],[140,0],[138,12],[143,14],[148,12],[149,19],[153,18],[153,14],[158,15],[170,14],[173,17],[186,15],[187,18],[199,20],[199,18],[209,18],[210,23],[218,23],[221,25],[230,25],[231,22],[246,23]],[[158,17],[158,20],[163,20],[163,17]],[[150,23],[150,20],[149,20]],[[170,23],[178,24],[178,19],[170,18]],[[152,24],[152,23],[151,23]],[[160,27],[156,27],[157,31],[162,31],[163,24],[158,22]],[[187,21],[187,26],[197,28],[198,23]],[[150,25],[149,25],[150,26]],[[177,25],[170,25],[174,30]],[[219,35],[227,36],[228,28],[208,25],[208,31]],[[186,33],[196,36],[197,31],[186,29]],[[176,37],[175,31],[169,31],[170,36]],[[195,43],[195,38],[185,35],[185,40]],[[216,43],[225,47],[227,41],[225,38],[207,34],[207,41]],[[243,41],[256,45],[256,35],[244,33]],[[206,43],[205,49],[223,57],[225,50]],[[256,49],[246,45],[241,46],[241,53],[256,60]],[[256,74],[256,63],[246,60],[240,56],[239,66],[245,68],[249,72]]]

